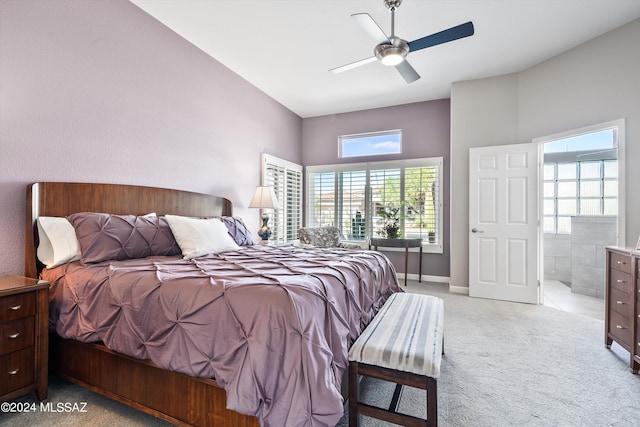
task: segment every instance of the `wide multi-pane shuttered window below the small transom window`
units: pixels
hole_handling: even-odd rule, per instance
[[[442,252],[442,158],[307,167],[307,225],[336,226],[364,242],[396,212],[400,236]]]

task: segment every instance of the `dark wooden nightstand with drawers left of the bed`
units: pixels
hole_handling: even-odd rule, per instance
[[[49,282],[0,276],[0,402],[47,398]]]

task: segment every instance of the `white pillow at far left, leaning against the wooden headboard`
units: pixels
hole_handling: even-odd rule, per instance
[[[47,268],[80,259],[76,230],[66,218],[41,216],[38,225],[38,259]]]

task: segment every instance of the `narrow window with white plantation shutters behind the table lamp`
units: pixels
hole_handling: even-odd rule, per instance
[[[262,155],[262,165],[262,184],[272,185],[280,202],[280,208],[266,209],[271,240],[295,240],[302,226],[302,166],[268,154]]]

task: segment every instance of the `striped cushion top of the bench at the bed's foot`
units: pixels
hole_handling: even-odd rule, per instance
[[[441,298],[393,294],[349,350],[349,361],[438,378],[443,322]]]

